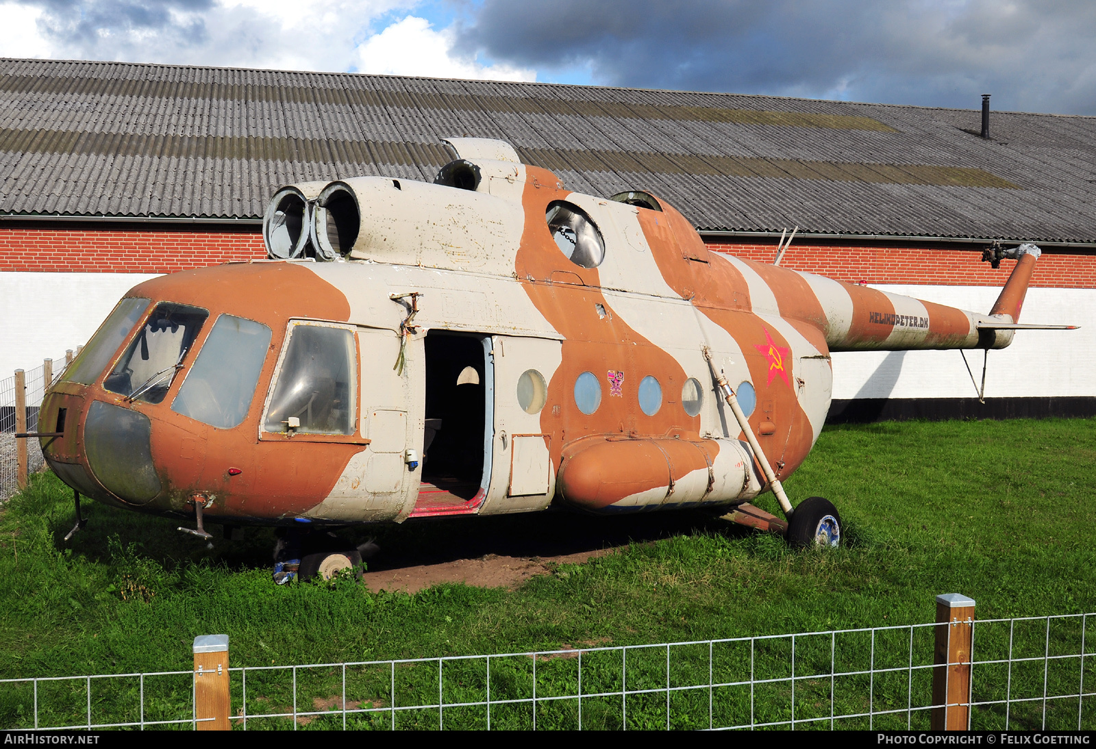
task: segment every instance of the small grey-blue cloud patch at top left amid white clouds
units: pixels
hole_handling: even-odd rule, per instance
[[[199,44],[205,24],[197,13],[214,0],[38,0],[41,32],[87,56],[114,58],[134,37],[153,34],[176,45]]]

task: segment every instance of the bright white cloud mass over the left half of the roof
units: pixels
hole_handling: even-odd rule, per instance
[[[0,55],[535,80],[455,53],[415,0],[9,0]],[[401,13],[402,11],[402,13]],[[400,16],[403,18],[400,18]],[[393,20],[395,19],[395,20]],[[387,25],[375,32],[374,25]]]

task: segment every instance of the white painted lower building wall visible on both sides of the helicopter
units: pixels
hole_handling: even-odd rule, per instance
[[[118,299],[155,275],[0,273],[0,379],[85,344]],[[880,285],[875,288],[975,312],[1000,289],[987,286]],[[1096,395],[1096,289],[1028,290],[1021,322],[1078,324],[1078,331],[1019,331],[990,352],[990,397]],[[968,352],[975,378],[981,352]],[[970,397],[974,385],[959,352],[850,352],[833,356],[833,396]],[[2,404],[0,404],[2,405]]]

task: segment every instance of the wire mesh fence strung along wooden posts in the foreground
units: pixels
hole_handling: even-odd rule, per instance
[[[968,727],[1096,728],[1096,614],[975,622]],[[935,627],[228,669],[236,729],[927,729]],[[946,625],[944,625],[946,626]],[[191,671],[0,680],[4,728],[191,728]],[[957,703],[958,704],[958,703]]]

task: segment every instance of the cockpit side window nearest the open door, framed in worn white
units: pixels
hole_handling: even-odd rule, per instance
[[[356,372],[353,331],[326,323],[293,323],[263,429],[354,434]]]

